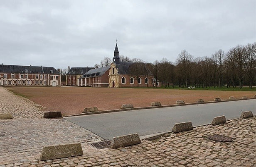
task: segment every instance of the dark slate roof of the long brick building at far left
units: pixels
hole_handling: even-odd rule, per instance
[[[26,69],[28,72],[25,72]],[[53,73],[51,73],[51,70],[53,71]],[[20,65],[6,65],[6,64],[0,64],[0,72],[60,74],[54,67],[20,66]]]

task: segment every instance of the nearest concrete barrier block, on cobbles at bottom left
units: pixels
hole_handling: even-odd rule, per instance
[[[81,143],[46,146],[43,148],[40,160],[53,160],[57,158],[83,155]]]

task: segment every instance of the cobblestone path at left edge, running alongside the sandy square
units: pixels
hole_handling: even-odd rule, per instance
[[[0,113],[12,113],[15,118],[42,118],[44,112],[41,110],[45,107],[14,95],[11,91],[7,91],[0,86]]]

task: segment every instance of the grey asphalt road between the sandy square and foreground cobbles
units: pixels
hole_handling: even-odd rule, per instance
[[[239,118],[241,112],[256,115],[256,100],[186,105],[146,110],[132,110],[97,115],[66,117],[79,126],[111,140],[115,136],[138,133],[139,136],[171,131],[175,123],[191,121],[193,126],[209,124],[214,117]]]

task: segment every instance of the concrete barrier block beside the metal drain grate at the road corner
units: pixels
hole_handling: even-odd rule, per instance
[[[113,137],[111,141],[111,148],[119,148],[125,146],[132,146],[140,143],[140,137],[138,134],[128,134],[124,136]]]

